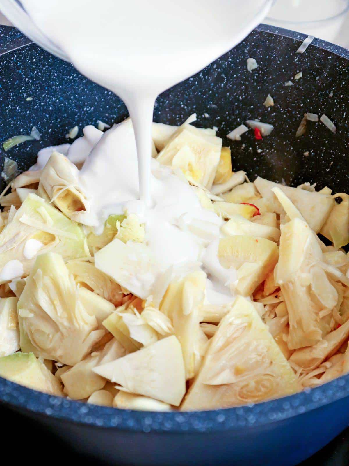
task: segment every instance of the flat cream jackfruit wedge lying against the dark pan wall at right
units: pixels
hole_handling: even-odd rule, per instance
[[[255,179],[255,186],[262,194],[262,197],[273,205],[274,212],[282,214],[283,208],[272,192],[273,188],[280,188],[301,212],[302,216],[315,233],[321,230],[322,225],[325,223],[334,206],[332,197],[320,192],[310,192],[304,189],[283,186],[260,177]]]

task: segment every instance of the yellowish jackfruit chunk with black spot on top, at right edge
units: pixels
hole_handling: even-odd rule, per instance
[[[333,197],[342,201],[340,204],[335,203],[320,233],[339,249],[349,243],[349,196],[344,192],[338,192]]]

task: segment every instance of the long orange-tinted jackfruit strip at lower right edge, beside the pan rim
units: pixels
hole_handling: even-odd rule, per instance
[[[325,359],[333,356],[349,337],[349,321],[326,335],[323,340],[308,348],[296,349],[290,362],[305,370],[313,370]]]

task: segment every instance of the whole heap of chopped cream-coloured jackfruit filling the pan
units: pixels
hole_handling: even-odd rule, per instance
[[[249,71],[258,66],[248,63]],[[273,105],[268,95],[264,106]],[[252,183],[245,171],[232,171],[231,150],[216,129],[190,127],[195,120],[154,123],[155,182],[175,174],[207,215],[196,218],[187,205],[177,212],[177,199],[163,204],[183,248],[194,236],[190,253],[197,249],[163,269],[149,245],[165,239],[172,251],[170,236],[163,227],[152,236],[153,214],[134,209],[134,201],[108,211],[101,232],[82,223],[93,199],[69,153],[53,151],[40,170],[20,175],[7,159],[1,376],[13,377],[2,372],[4,359],[26,358],[23,367],[36,364],[44,380],[38,387],[22,370],[15,381],[29,387],[91,404],[173,411],[256,403],[349,372],[349,257],[342,249],[349,196],[309,182]],[[328,117],[320,120],[336,131]],[[318,121],[305,113],[295,136]],[[97,123],[100,131],[109,127]],[[262,138],[274,130],[245,123],[228,139],[240,141],[248,128]],[[39,140],[39,131],[32,136]]]

